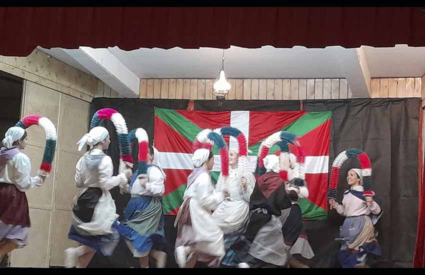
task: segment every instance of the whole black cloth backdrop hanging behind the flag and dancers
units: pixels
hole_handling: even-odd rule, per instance
[[[90,106],[91,115],[100,108],[114,108],[127,122],[128,129],[143,127],[149,140],[153,138],[154,107],[186,109],[184,99],[133,99],[95,98]],[[373,190],[381,201],[384,214],[376,225],[382,257],[377,267],[409,267],[413,259],[417,225],[417,150],[420,99],[340,99],[340,100],[226,100],[219,107],[215,100],[195,100],[195,110],[299,110],[332,111],[330,133],[329,170],[335,154],[350,147],[363,149],[372,162]],[[118,164],[118,148],[115,129],[110,121],[104,125],[111,135],[107,153],[112,157],[115,173]],[[134,159],[136,147],[133,147]],[[346,188],[345,174],[349,167],[359,167],[356,160],[348,160],[341,168],[338,196]],[[117,188],[111,191],[118,214],[122,215],[128,196],[120,195]],[[173,227],[175,216],[165,216],[165,234],[168,240],[167,267],[176,267],[174,261]],[[311,267],[336,267],[334,254],[338,249],[334,238],[343,217],[329,211],[328,219],[305,221],[306,232],[315,256],[304,260]],[[104,257],[96,253],[89,267],[138,266],[138,260],[129,253],[120,241],[114,254]],[[201,267],[201,265],[199,265]]]

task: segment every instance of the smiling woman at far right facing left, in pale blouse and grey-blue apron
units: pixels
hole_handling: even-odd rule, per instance
[[[373,200],[374,192],[364,192],[362,170],[351,168],[347,172],[349,189],[344,191],[342,204],[329,198],[330,209],[345,216],[340,227],[341,248],[337,258],[342,267],[369,267],[366,263],[370,254],[380,255],[374,224],[381,214],[379,205]],[[371,215],[373,220],[371,219]],[[377,218],[373,215],[379,215]]]

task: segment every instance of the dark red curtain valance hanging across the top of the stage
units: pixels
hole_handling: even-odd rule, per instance
[[[425,46],[421,7],[0,7],[0,54],[37,45],[256,48]]]

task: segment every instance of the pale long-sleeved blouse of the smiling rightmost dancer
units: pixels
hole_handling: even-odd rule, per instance
[[[354,186],[352,189],[356,191],[364,191],[363,186],[361,185]],[[366,201],[351,193],[344,194],[344,197],[342,198],[342,205],[336,202],[335,209],[338,214],[343,216],[360,216],[369,215],[370,213],[377,215],[380,213],[380,207],[375,201],[372,201],[370,205],[367,205]]]

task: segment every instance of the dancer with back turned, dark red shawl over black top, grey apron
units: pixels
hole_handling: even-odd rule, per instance
[[[295,190],[287,190],[287,182],[279,176],[278,156],[267,155],[263,163],[266,172],[257,179],[250,196],[246,229],[230,246],[238,267],[283,266],[287,262],[279,216],[298,196]]]

